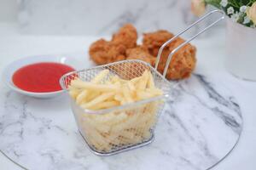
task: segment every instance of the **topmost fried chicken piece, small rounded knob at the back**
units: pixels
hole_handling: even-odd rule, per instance
[[[113,45],[122,44],[125,48],[135,48],[137,46],[136,28],[131,24],[126,24],[113,34],[111,42]]]

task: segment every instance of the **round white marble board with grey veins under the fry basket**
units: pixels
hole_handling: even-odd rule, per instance
[[[1,88],[0,149],[28,169],[204,170],[239,139],[242,118],[225,77],[194,74],[179,83],[160,115],[152,144],[96,156],[78,133],[66,95],[32,99]]]

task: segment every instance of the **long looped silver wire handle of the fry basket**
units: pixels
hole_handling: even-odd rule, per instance
[[[166,48],[166,45],[168,45],[169,43],[171,43],[173,40],[175,40],[177,37],[179,37],[180,35],[182,35],[184,32],[188,31],[191,27],[195,26],[196,24],[200,23],[201,20],[205,20],[207,19],[208,16],[215,14],[215,13],[220,13],[221,16],[218,18],[218,20],[215,20],[214,22],[212,22],[211,25],[207,26],[206,28],[204,28],[203,30],[199,31],[198,33],[195,34],[195,36],[190,37],[187,41],[181,43],[179,46],[177,46],[177,48],[173,49],[172,52],[168,55],[168,59],[166,61],[166,66],[164,69],[164,73],[163,76],[166,77],[166,73],[168,71],[168,67],[170,65],[171,59],[172,59],[172,55],[175,54],[177,52],[177,50],[179,50],[180,48],[182,48],[184,45],[186,45],[187,43],[191,42],[193,39],[195,39],[195,37],[198,37],[199,35],[201,35],[201,33],[203,33],[204,31],[207,31],[209,28],[211,28],[212,26],[216,25],[218,23],[218,21],[220,20],[224,20],[224,12],[220,11],[220,10],[212,10],[210,13],[204,15],[203,17],[201,17],[199,20],[196,20],[193,24],[191,24],[190,26],[188,26],[186,29],[184,29],[183,31],[179,32],[175,37],[172,37],[170,40],[168,40],[167,42],[165,42],[161,47],[160,50],[157,54],[157,58],[155,61],[155,65],[154,65],[154,69],[155,71],[157,71],[159,62],[160,62],[160,57],[161,54],[164,50],[164,48]]]

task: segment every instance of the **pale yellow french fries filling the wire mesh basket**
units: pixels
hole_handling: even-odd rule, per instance
[[[150,99],[163,92],[154,86],[154,78],[148,70],[131,80],[104,70],[90,82],[74,79],[69,85],[69,94],[81,108],[97,111]],[[96,150],[110,151],[149,139],[159,104],[160,101],[154,101],[106,114],[74,112],[86,141]]]

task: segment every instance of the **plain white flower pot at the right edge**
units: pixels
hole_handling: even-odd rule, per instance
[[[256,81],[256,29],[226,20],[226,68],[236,77]]]

